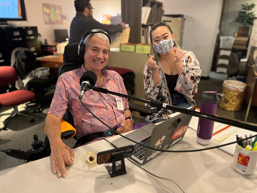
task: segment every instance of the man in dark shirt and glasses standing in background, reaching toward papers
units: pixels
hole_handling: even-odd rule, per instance
[[[90,0],[75,0],[76,16],[70,25],[69,44],[79,43],[82,35],[91,29],[101,29],[108,34],[114,34],[124,29],[125,23],[118,25],[105,25],[93,19],[93,7]]]

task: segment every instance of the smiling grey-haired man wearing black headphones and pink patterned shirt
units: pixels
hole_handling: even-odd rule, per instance
[[[127,94],[121,76],[115,71],[104,69],[110,56],[109,49],[110,37],[105,31],[99,29],[87,31],[78,48],[79,57],[84,58],[85,62],[81,68],[63,73],[58,78],[55,94],[46,117],[46,134],[51,146],[52,171],[57,174],[58,178],[67,176],[65,163],[72,165],[74,162],[73,150],[66,146],[60,137],[60,123],[66,109],[73,115],[77,138],[109,130],[79,101],[81,87],[79,80],[84,72],[91,70],[96,74],[95,86]],[[134,122],[126,98],[89,89],[85,92],[82,102],[104,123],[112,128],[119,127],[117,132],[124,133],[133,129]],[[101,140],[101,137],[100,135],[91,142]]]

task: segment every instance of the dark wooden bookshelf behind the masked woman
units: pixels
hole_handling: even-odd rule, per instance
[[[142,7],[151,7],[146,24],[142,24]],[[162,2],[155,0],[121,0],[121,17],[130,26],[130,43],[142,43],[142,27],[147,29],[162,20]]]

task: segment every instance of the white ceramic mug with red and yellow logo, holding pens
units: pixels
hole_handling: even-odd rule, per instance
[[[257,151],[250,151],[236,144],[233,168],[241,174],[251,175],[256,169]]]

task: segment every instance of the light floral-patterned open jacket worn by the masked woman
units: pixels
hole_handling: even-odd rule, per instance
[[[181,94],[184,94],[188,103],[191,104],[192,106],[196,106],[196,103],[193,97],[197,93],[197,84],[200,80],[202,70],[193,52],[185,51],[184,56],[185,56],[185,64],[180,74],[178,75],[177,84],[174,90],[176,90]],[[158,61],[157,65],[158,65],[159,73],[161,77],[158,85],[160,85],[163,88],[162,96],[166,97],[165,103],[171,105],[172,104],[171,95],[168,89],[168,84],[165,78],[165,74],[164,74],[161,62]],[[152,69],[146,65],[144,69],[144,86],[145,86],[145,94],[147,98],[155,100],[159,92],[159,88],[157,88],[157,86],[154,87],[154,82],[152,80]],[[150,105],[146,104],[146,106],[150,106]],[[162,110],[162,113],[163,113],[164,119],[169,119],[168,115],[171,114],[172,111],[164,109]],[[145,118],[147,123],[152,123],[156,119],[157,118],[152,115],[146,116]]]

